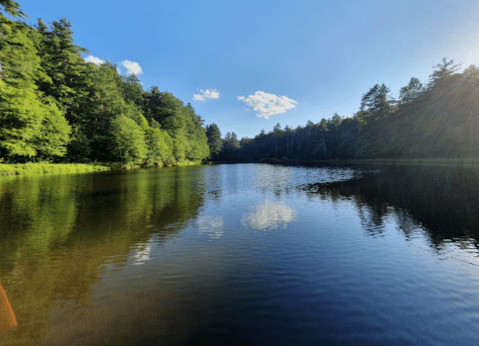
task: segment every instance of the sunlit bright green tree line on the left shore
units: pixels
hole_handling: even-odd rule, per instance
[[[15,1],[0,5],[28,18]],[[149,167],[210,156],[190,103],[156,86],[144,91],[108,61],[86,63],[71,27],[65,18],[30,26],[0,12],[0,158]]]

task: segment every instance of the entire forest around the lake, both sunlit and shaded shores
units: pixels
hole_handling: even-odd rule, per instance
[[[18,3],[0,0],[22,18]],[[0,13],[0,161],[120,162],[131,166],[185,161],[259,162],[374,158],[477,158],[479,69],[446,58],[423,84],[411,78],[391,97],[385,84],[363,94],[352,116],[334,114],[295,129],[222,138],[214,123],[169,92],[144,91],[116,65],[86,63],[65,18],[32,27]],[[319,118],[319,117],[318,117]]]

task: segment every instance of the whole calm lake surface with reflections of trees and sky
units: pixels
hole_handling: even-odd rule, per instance
[[[478,173],[3,177],[0,344],[479,344]]]

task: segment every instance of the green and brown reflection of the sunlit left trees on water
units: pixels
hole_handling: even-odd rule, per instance
[[[102,270],[143,263],[152,234],[165,240],[198,214],[202,181],[195,167],[12,180],[0,195],[0,280],[19,327],[0,344],[40,340],[55,309],[89,304]]]

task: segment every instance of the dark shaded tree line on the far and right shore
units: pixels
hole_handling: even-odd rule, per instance
[[[295,129],[278,123],[254,138],[207,131],[218,161],[262,159],[477,158],[479,156],[479,69],[443,59],[427,84],[411,78],[398,99],[385,84],[371,87],[351,117],[334,114]],[[207,128],[208,130],[208,128]],[[212,134],[215,134],[214,136]],[[221,137],[221,134],[219,134]],[[219,149],[218,149],[219,148]]]

